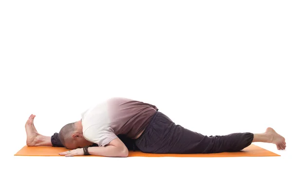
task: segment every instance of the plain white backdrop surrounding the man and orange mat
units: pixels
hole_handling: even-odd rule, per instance
[[[0,192],[290,193],[291,10],[288,0],[1,1]],[[116,96],[206,135],[272,127],[287,149],[255,143],[281,155],[256,158],[13,156],[30,114],[51,136]]]

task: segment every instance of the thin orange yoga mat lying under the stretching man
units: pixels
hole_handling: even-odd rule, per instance
[[[22,147],[15,156],[60,156],[58,153],[67,151],[64,147]],[[146,154],[140,151],[129,151],[129,157],[251,157],[251,156],[280,156],[254,144],[239,152],[223,152],[215,154]],[[76,157],[76,156],[75,156]],[[79,157],[100,157],[100,156],[79,156]]]

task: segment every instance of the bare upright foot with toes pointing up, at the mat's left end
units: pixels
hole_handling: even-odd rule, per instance
[[[37,146],[39,133],[34,125],[34,119],[36,115],[31,114],[25,123],[26,131],[26,145],[27,146]]]

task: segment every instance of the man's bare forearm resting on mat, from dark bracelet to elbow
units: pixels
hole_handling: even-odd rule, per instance
[[[128,149],[119,148],[116,146],[100,146],[100,147],[88,147],[90,155],[106,156],[106,157],[128,157]]]

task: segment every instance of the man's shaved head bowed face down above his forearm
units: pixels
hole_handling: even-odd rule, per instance
[[[65,125],[59,132],[59,138],[62,145],[68,149],[92,145],[83,137],[81,121]]]

